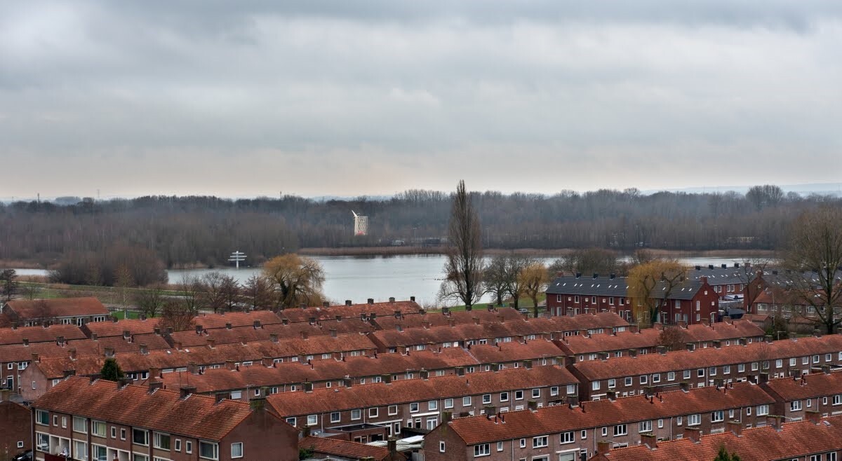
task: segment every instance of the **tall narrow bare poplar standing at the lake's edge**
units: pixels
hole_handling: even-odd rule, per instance
[[[445,250],[445,281],[439,299],[459,299],[466,310],[482,298],[482,228],[465,181],[459,181],[450,209],[450,225]]]

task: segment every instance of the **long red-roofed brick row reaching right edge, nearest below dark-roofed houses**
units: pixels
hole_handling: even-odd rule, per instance
[[[780,378],[805,374],[823,365],[842,364],[842,335],[740,343],[743,346],[591,360],[573,363],[568,369],[582,383],[579,398],[598,400],[605,398],[608,391],[639,395],[647,388],[703,387],[720,379],[725,383],[756,383],[761,373]]]

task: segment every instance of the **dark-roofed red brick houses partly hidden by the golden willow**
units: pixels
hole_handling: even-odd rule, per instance
[[[578,276],[577,276],[578,275]],[[578,315],[614,312],[626,321],[634,321],[628,281],[623,277],[582,278],[580,274],[559,277],[546,289],[546,307],[552,315]],[[653,293],[658,293],[658,287]],[[659,319],[663,324],[697,324],[717,320],[719,296],[706,277],[687,279],[674,287],[663,304],[658,300]]]

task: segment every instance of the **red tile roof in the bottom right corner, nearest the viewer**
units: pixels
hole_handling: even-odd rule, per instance
[[[607,456],[598,455],[598,461],[710,461],[717,457],[719,448],[736,453],[743,461],[768,461],[770,459],[800,458],[808,454],[835,452],[842,449],[842,416],[833,416],[813,424],[811,421],[786,423],[781,432],[774,427],[743,429],[742,437],[733,432],[707,435],[694,443],[688,438],[673,442],[658,442],[656,450],[646,446],[611,450]]]

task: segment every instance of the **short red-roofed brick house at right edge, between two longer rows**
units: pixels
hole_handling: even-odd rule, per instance
[[[818,411],[821,416],[842,415],[842,373],[830,372],[802,374],[793,378],[761,381],[760,387],[775,397],[775,415],[786,421],[801,421],[807,411]]]

